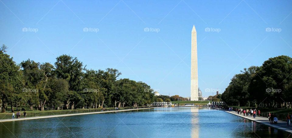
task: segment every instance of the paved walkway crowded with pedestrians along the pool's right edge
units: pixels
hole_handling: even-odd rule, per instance
[[[215,107],[213,107],[213,108],[215,108]],[[215,108],[215,109],[221,110],[219,108]],[[258,117],[258,116],[256,116],[255,118],[253,118],[251,116],[243,116],[243,113],[242,114],[237,114],[237,113],[235,113],[235,111],[230,111],[230,112],[229,111],[225,111],[225,110],[222,110],[222,111],[227,112],[227,113],[231,113],[231,114],[237,115],[239,117],[243,117],[243,118],[258,122],[258,123],[262,123],[262,124],[267,125],[269,127],[274,127],[276,129],[292,133],[292,124],[291,124],[290,127],[288,127],[287,126],[287,122],[285,122],[285,121],[278,120],[278,124],[271,125],[270,122],[269,122],[269,119],[267,117]]]

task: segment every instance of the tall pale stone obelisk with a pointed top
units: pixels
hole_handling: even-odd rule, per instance
[[[198,86],[198,57],[197,57],[197,32],[195,25],[192,29],[192,50],[191,50],[191,100],[199,100]]]

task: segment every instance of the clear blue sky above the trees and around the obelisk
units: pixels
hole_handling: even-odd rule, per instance
[[[17,64],[54,64],[69,54],[88,69],[116,68],[160,94],[189,97],[195,25],[199,87],[209,96],[243,68],[292,57],[291,7],[282,0],[0,0],[0,44]]]

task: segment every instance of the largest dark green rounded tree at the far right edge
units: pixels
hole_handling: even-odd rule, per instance
[[[289,87],[292,85],[292,58],[278,56],[269,58],[251,80],[249,91],[253,104],[260,107],[280,107],[284,101],[291,101]],[[285,104],[287,107],[287,104]]]

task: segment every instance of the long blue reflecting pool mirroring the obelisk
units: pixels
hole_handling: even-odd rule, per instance
[[[0,123],[0,137],[292,137],[209,107],[168,107]]]

